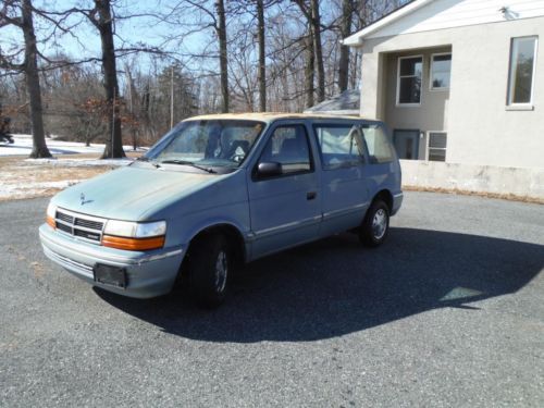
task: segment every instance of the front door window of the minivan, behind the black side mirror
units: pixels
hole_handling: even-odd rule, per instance
[[[306,127],[304,125],[276,127],[264,147],[259,162],[280,163],[283,174],[313,170]]]

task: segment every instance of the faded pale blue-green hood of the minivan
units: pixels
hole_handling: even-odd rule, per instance
[[[127,166],[66,188],[52,202],[89,215],[146,221],[164,206],[221,178],[217,174]]]

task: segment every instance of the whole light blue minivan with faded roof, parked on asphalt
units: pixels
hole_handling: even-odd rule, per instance
[[[206,115],[131,165],[59,193],[39,235],[51,260],[92,285],[148,298],[183,275],[213,307],[244,262],[344,231],[379,246],[401,202],[381,122]]]

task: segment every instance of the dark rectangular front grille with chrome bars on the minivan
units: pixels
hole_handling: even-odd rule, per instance
[[[58,230],[66,234],[94,244],[100,244],[106,220],[64,209],[57,209],[54,223]]]

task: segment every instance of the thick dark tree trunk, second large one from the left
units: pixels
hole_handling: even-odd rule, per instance
[[[95,24],[102,42],[102,70],[106,101],[108,103],[108,132],[110,141],[106,144],[102,159],[124,158],[123,138],[121,135],[121,118],[119,112],[118,70],[115,67],[115,48],[113,45],[113,25],[110,0],[95,0],[98,16]]]

